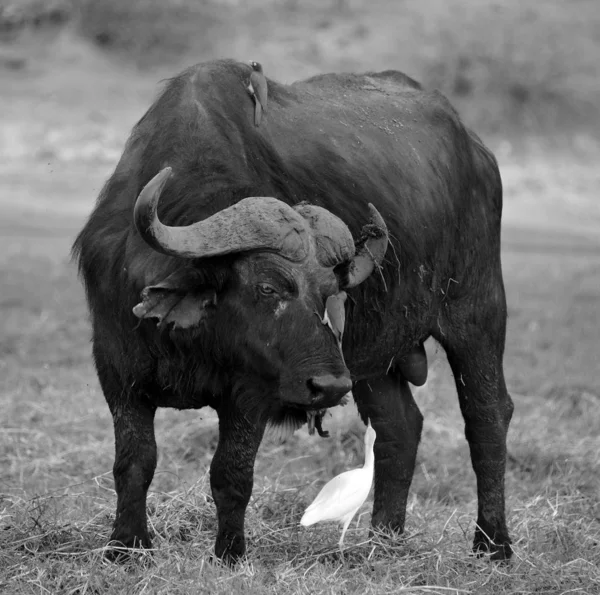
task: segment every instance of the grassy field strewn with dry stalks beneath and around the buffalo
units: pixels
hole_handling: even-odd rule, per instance
[[[65,223],[67,225],[67,223]],[[300,431],[265,441],[247,514],[248,557],[211,562],[216,520],[207,469],[210,412],[160,411],[149,497],[154,551],[103,558],[114,515],[112,428],[91,365],[82,290],[52,228],[4,233],[0,285],[0,591],[21,593],[594,593],[600,589],[600,252],[550,256],[508,233],[506,372],[516,404],[509,440],[510,565],[470,555],[474,475],[443,354],[417,400],[426,422],[405,536],[368,538],[362,510],[339,531],[299,519],[322,483],[362,459],[353,407],[328,440]],[[510,231],[510,230],[509,230]],[[32,237],[36,238],[32,242]],[[515,239],[516,238],[516,239]],[[541,240],[540,240],[541,241]]]

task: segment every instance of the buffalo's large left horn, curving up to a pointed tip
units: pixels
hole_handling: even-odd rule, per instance
[[[144,186],[134,207],[135,226],[154,250],[182,258],[259,249],[274,250],[293,261],[308,255],[310,232],[303,218],[292,207],[272,197],[244,198],[192,225],[164,225],[156,211],[170,176],[170,167],[156,174]]]

